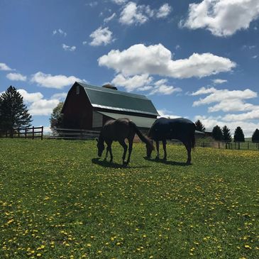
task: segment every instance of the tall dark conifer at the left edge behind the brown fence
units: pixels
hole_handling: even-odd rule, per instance
[[[23,97],[15,87],[9,87],[0,96],[0,128],[2,131],[10,131],[13,136],[13,128],[31,126],[31,115],[23,104]]]

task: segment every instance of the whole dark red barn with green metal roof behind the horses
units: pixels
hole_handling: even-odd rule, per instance
[[[110,119],[131,119],[136,125],[148,129],[158,111],[152,101],[140,94],[121,92],[109,84],[95,87],[75,82],[62,108],[65,128],[98,130]]]

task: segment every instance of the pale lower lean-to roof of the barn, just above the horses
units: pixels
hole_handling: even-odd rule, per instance
[[[98,111],[99,114],[103,114],[105,116],[108,116],[112,119],[119,119],[119,118],[128,118],[131,121],[133,121],[136,126],[140,128],[150,128],[152,124],[155,122],[155,118],[146,118],[141,116],[132,116],[132,115],[125,115],[125,114],[114,114],[111,112],[104,112],[104,111]]]

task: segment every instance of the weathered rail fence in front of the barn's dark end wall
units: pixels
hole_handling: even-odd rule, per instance
[[[62,139],[94,139],[99,137],[100,131],[87,131],[84,129],[76,128],[55,128],[53,135],[49,138],[62,138]]]

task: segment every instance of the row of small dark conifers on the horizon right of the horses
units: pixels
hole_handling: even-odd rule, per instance
[[[197,131],[205,132],[206,128],[202,124],[202,121],[197,120],[195,121],[196,129]],[[231,142],[232,136],[230,129],[225,125],[223,128],[216,125],[212,129],[211,136],[218,141],[224,141],[224,142]],[[245,136],[243,134],[243,130],[240,126],[236,127],[233,135],[233,140],[235,142],[245,142]],[[258,143],[259,142],[259,130],[258,128],[255,129],[252,136],[252,142]]]

